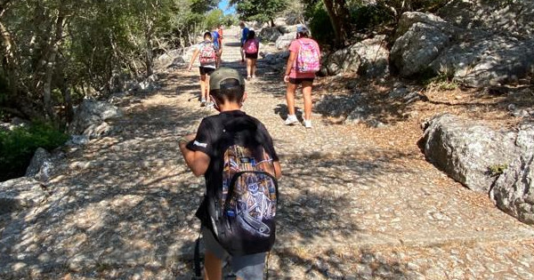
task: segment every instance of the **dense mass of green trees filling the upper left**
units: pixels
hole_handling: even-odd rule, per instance
[[[150,76],[155,55],[192,44],[217,4],[0,0],[0,117],[68,124],[77,100]]]

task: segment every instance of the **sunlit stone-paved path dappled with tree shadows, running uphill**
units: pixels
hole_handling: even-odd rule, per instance
[[[239,59],[227,36],[224,65],[244,74]],[[420,153],[377,147],[318,115],[312,130],[284,126],[281,76],[259,66],[244,110],[271,132],[284,174],[271,279],[534,277],[534,228]],[[190,279],[204,180],[176,140],[215,111],[198,106],[196,71],[161,76],[158,92],[117,101],[120,130],[66,150],[42,204],[0,216],[0,278]]]

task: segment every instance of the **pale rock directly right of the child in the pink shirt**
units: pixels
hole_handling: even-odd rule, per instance
[[[359,73],[367,76],[384,76],[388,73],[389,51],[385,48],[385,36],[375,36],[334,52],[322,63],[327,75]]]

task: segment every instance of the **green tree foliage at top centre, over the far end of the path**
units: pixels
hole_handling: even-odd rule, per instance
[[[236,4],[236,11],[242,20],[270,22],[286,9],[287,0],[235,0],[231,4]]]

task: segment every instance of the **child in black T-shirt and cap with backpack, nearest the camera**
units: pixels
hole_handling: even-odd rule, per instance
[[[222,279],[222,260],[229,255],[238,279],[263,279],[265,252],[275,238],[279,158],[265,126],[241,111],[247,94],[237,70],[215,70],[210,97],[220,114],[205,117],[196,134],[178,140],[190,170],[206,179],[196,213],[206,244],[205,279]]]

